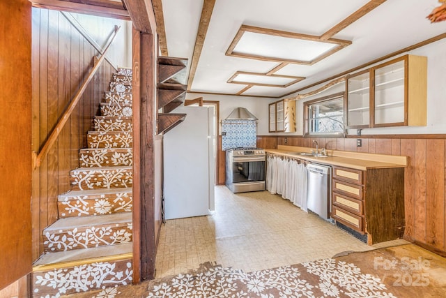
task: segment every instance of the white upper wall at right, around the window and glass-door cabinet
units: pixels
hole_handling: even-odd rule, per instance
[[[388,128],[366,128],[362,130],[362,135],[387,135],[387,134],[429,134],[429,133],[446,133],[446,39],[438,40],[420,47],[416,50],[403,53],[414,54],[427,57],[427,126],[401,126]],[[392,57],[394,59],[396,57]],[[390,60],[390,59],[389,59]],[[383,63],[381,61],[379,64]],[[368,66],[367,68],[369,68]],[[360,71],[360,70],[357,70]],[[324,82],[318,86],[302,90],[299,93],[305,94],[323,86],[328,82]],[[289,135],[303,135],[303,103],[307,100],[321,98],[330,94],[345,91],[345,84],[337,84],[336,86],[323,91],[320,94],[309,96],[307,98],[297,100],[296,102],[296,126],[297,131]],[[297,94],[287,96],[291,98]],[[349,133],[355,133],[350,130]]]

